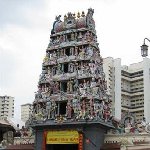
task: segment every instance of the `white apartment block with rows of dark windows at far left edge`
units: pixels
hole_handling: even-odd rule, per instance
[[[0,96],[0,119],[14,117],[14,97]]]

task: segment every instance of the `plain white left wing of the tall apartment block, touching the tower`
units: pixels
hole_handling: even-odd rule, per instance
[[[103,60],[108,95],[112,100],[113,115],[121,119],[121,59],[107,57]]]

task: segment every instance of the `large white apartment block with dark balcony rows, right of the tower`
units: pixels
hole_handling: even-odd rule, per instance
[[[120,59],[108,57],[104,72],[115,117],[121,119],[121,114],[131,112],[137,121],[145,117],[150,122],[150,59],[121,66]]]

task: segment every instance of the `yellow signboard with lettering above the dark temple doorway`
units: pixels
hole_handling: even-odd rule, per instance
[[[48,131],[46,144],[79,144],[77,131]]]

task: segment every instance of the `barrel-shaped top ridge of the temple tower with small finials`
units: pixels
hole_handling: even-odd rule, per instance
[[[77,14],[68,12],[64,15],[63,21],[61,15],[56,16],[53,23],[51,34],[70,29],[88,28],[95,31],[95,21],[93,19],[94,9],[89,8],[87,14],[82,11]]]

